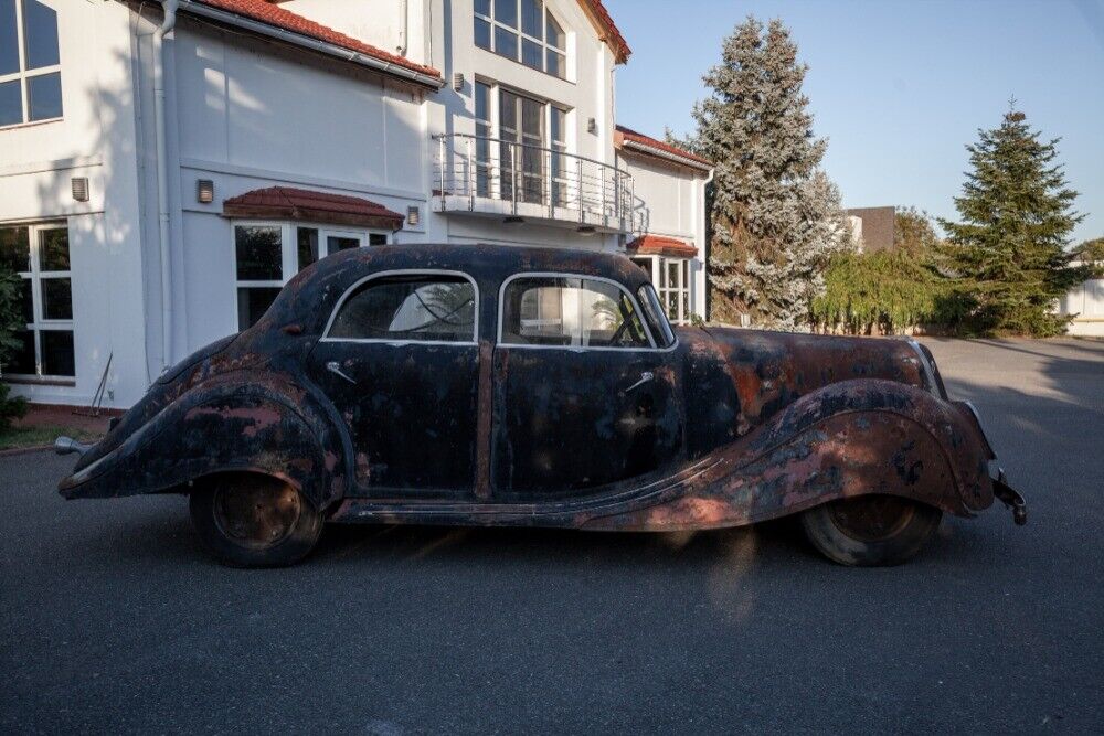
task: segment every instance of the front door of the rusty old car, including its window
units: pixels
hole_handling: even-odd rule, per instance
[[[499,301],[497,495],[597,493],[679,457],[679,370],[622,285],[522,274],[503,284]]]

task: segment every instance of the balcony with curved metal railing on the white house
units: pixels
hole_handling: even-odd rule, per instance
[[[571,227],[639,231],[633,177],[556,148],[499,138],[434,136],[435,212]]]

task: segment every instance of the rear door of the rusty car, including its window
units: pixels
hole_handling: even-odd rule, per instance
[[[473,493],[477,303],[468,275],[422,270],[373,275],[338,302],[308,363],[349,431],[350,495]]]

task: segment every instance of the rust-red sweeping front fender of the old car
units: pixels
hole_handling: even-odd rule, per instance
[[[698,461],[678,492],[587,529],[739,526],[885,493],[969,516],[992,504],[991,452],[968,410],[914,386],[854,380],[811,392]]]

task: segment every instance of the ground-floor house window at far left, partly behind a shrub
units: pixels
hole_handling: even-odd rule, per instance
[[[72,378],[73,278],[68,228],[64,223],[0,227],[0,267],[21,279],[20,349],[3,373]]]

